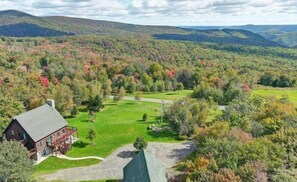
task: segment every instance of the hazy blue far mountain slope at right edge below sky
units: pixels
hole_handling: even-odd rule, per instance
[[[243,25],[243,26],[184,26],[183,28],[205,29],[241,29],[262,35],[270,41],[283,46],[297,46],[297,25]]]

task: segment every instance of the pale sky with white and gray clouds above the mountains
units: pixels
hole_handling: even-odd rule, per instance
[[[297,24],[297,0],[0,0],[0,10],[142,25]]]

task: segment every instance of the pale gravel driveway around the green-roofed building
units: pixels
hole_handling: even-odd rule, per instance
[[[187,157],[195,149],[193,142],[155,143],[149,142],[147,150],[152,153],[167,169]],[[42,176],[45,180],[85,181],[100,179],[122,179],[123,168],[132,159],[134,147],[125,145],[100,164],[60,170],[56,173]]]

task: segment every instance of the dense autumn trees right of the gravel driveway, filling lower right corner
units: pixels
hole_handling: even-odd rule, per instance
[[[211,118],[215,105],[181,99],[166,112],[196,151],[178,166],[181,181],[296,181],[297,110],[288,98],[240,96]]]

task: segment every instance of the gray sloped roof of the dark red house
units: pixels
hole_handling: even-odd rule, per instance
[[[22,113],[15,119],[35,142],[68,124],[55,108],[47,104]]]

